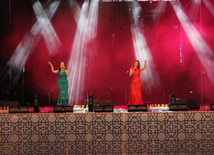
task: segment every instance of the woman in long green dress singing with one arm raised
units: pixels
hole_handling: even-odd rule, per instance
[[[59,70],[54,70],[51,62],[48,62],[48,64],[51,66],[52,73],[58,74],[58,76],[59,76],[59,81],[58,81],[59,96],[58,96],[57,105],[68,106],[68,80],[67,80],[67,76],[69,76],[69,73],[66,70],[65,63],[60,62]]]

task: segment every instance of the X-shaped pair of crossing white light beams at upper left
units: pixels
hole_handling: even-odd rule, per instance
[[[54,1],[50,4],[49,8],[45,11],[39,1],[35,1],[33,4],[33,10],[35,12],[37,22],[32,26],[30,32],[27,32],[17,48],[10,57],[7,66],[12,66],[14,74],[12,75],[12,85],[15,86],[20,78],[22,69],[30,55],[35,49],[41,36],[44,37],[48,52],[50,55],[61,46],[61,43],[50,23],[50,20],[54,16],[60,1]]]

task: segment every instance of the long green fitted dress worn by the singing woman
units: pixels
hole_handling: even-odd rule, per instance
[[[68,80],[65,71],[59,72],[59,81],[58,81],[58,89],[59,96],[57,105],[59,106],[68,106]]]

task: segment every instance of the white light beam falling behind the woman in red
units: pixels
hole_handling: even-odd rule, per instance
[[[135,57],[140,62],[144,62],[147,59],[147,67],[141,73],[142,82],[144,83],[145,91],[149,90],[152,86],[157,86],[159,84],[159,76],[155,70],[155,64],[153,63],[153,57],[149,50],[148,44],[144,35],[141,32],[139,26],[139,14],[142,10],[139,2],[132,3],[132,14],[134,18],[134,24],[131,25],[132,40],[134,45]],[[141,64],[141,66],[144,64]]]

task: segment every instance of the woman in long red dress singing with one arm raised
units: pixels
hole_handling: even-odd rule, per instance
[[[146,59],[143,68],[140,68],[140,62],[135,60],[133,67],[130,68],[129,76],[132,76],[131,93],[128,105],[142,105],[142,82],[140,79],[140,72],[146,68]]]

